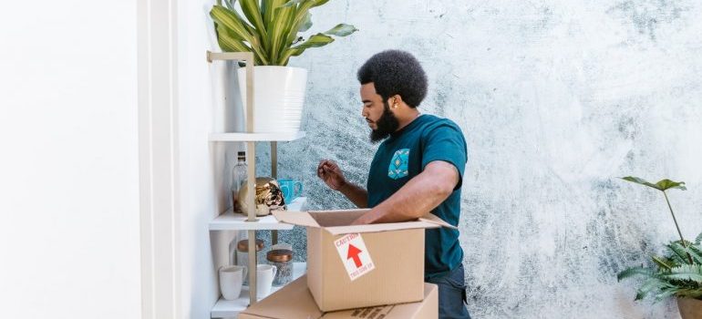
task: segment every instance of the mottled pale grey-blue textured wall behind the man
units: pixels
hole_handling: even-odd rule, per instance
[[[700,16],[697,0],[330,1],[313,31],[361,31],[292,61],[310,71],[308,136],[281,145],[280,175],[304,180],[314,209],[350,208],[316,163],[365,185],[376,146],[356,69],[408,50],[428,72],[420,110],[456,121],[470,147],[460,238],[473,316],[676,318],[672,302],[634,303],[635,283],[616,283],[676,232],[662,196],[614,177],[687,181],[671,201],[685,235],[702,231]],[[304,258],[301,236],[283,239]]]

